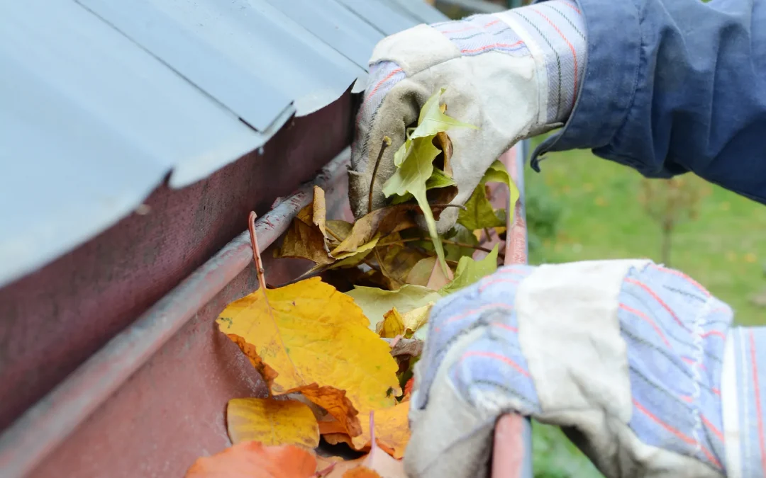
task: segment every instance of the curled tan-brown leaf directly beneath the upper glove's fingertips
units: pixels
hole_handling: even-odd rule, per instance
[[[354,223],[349,236],[332,249],[332,255],[338,257],[343,252],[356,252],[376,235],[388,236],[392,232],[417,226],[412,217],[414,210],[418,208],[413,204],[399,204],[383,207],[362,216]]]

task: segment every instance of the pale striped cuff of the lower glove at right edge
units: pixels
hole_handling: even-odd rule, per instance
[[[766,475],[766,327],[729,333],[722,379],[729,478]]]

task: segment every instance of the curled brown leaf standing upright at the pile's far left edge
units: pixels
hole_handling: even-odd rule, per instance
[[[332,258],[325,229],[325,192],[314,187],[314,200],[304,207],[287,229],[280,249],[274,257],[298,257],[317,264],[332,264]]]

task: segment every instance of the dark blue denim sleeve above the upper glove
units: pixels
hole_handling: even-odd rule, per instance
[[[766,203],[766,0],[577,2],[584,80],[532,167],[590,148],[647,177],[692,171]]]

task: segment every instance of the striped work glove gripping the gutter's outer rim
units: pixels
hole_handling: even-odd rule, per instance
[[[561,426],[607,478],[764,476],[766,330],[731,324],[648,261],[501,268],[430,314],[408,476],[489,476],[510,411]]]

